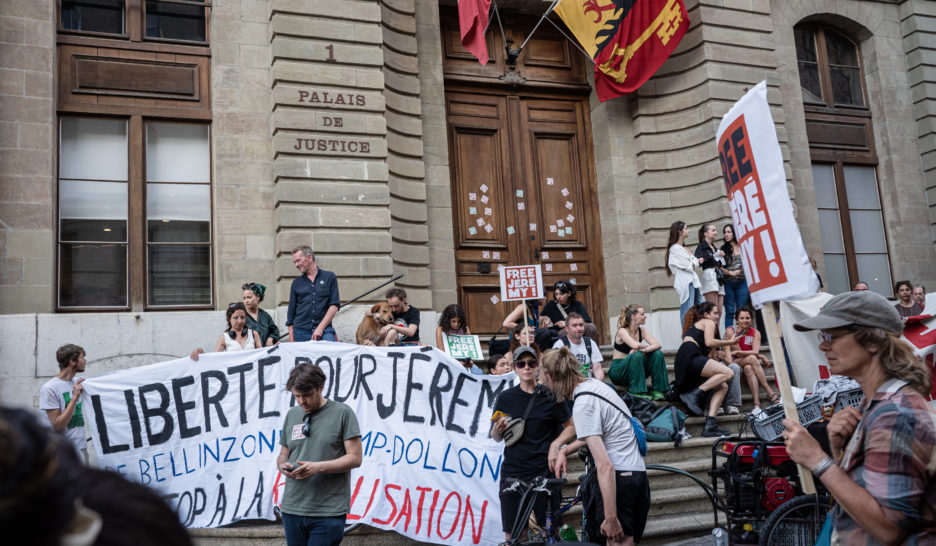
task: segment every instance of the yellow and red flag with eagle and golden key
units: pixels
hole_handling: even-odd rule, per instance
[[[689,28],[683,0],[561,0],[556,13],[595,61],[602,102],[643,85]]]

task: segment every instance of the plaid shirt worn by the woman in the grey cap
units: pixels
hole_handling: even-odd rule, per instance
[[[904,544],[936,545],[936,411],[905,381],[874,394],[839,466],[907,530]],[[878,544],[840,505],[833,518],[832,544]]]

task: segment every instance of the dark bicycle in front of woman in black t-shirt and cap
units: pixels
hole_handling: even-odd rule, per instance
[[[527,525],[530,515],[533,513],[533,506],[541,496],[551,497],[554,493],[551,486],[565,485],[565,478],[546,478],[540,476],[532,482],[525,482],[517,478],[507,478],[509,484],[505,492],[519,494],[520,505],[517,510],[517,519],[514,520],[513,527],[510,529],[510,539],[501,543],[502,546],[515,546],[520,544],[555,544],[562,542],[559,537],[559,529],[553,525],[554,521],[562,521],[561,517],[570,508],[582,502],[581,496],[576,492],[574,497],[562,497],[560,506],[554,511],[546,511],[546,525],[538,531],[529,532]],[[584,529],[584,514],[582,514]]]

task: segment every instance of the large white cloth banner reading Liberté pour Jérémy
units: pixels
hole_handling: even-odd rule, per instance
[[[187,527],[274,519],[290,370],[312,362],[323,396],[348,404],[363,463],[348,522],[422,542],[502,540],[503,445],[488,436],[496,396],[515,374],[473,376],[432,347],[283,343],[208,353],[89,378],[88,428],[99,464],[160,491]]]

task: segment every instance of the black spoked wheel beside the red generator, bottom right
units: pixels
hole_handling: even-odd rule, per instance
[[[812,546],[829,513],[828,495],[800,495],[781,504],[760,531],[761,546]]]

